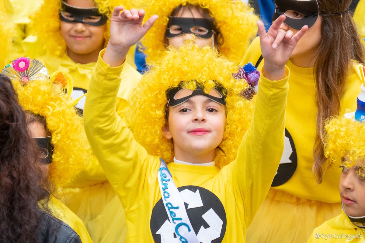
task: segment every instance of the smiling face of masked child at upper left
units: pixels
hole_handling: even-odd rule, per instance
[[[95,7],[92,0],[67,0],[66,3],[73,7]],[[103,26],[91,26],[83,23],[60,21],[60,27],[69,56],[85,56],[94,52],[99,53],[103,48],[106,24]]]

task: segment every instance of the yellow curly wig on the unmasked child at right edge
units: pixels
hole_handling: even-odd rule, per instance
[[[335,117],[326,122],[324,154],[330,164],[350,168],[356,166],[365,177],[365,123],[346,117]]]

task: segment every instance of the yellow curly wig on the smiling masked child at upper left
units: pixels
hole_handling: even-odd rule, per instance
[[[93,0],[100,13],[108,16],[118,5],[116,0]],[[59,9],[61,0],[44,0],[41,8],[31,17],[30,30],[38,36],[43,48],[48,54],[61,56],[66,51],[66,43],[62,38],[59,27]],[[43,21],[40,21],[43,20]],[[106,31],[104,32],[104,45],[110,38],[110,19],[107,20]]]

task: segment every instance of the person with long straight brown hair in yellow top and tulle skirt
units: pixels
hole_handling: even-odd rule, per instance
[[[360,93],[358,66],[364,62],[364,48],[347,11],[351,0],[275,4],[273,19],[288,15],[280,31],[295,33],[304,24],[310,28],[287,62],[291,77],[284,153],[272,188],[247,230],[247,242],[303,243],[315,227],[341,212],[339,172],[327,169],[323,125],[326,118],[356,108],[353,97]],[[257,38],[241,64],[260,63],[260,55]]]

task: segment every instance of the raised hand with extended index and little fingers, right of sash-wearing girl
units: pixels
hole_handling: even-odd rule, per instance
[[[278,17],[266,34],[264,24],[257,22],[258,35],[260,36],[261,52],[264,57],[264,76],[270,80],[280,80],[285,78],[285,64],[292,54],[300,38],[308,30],[304,26],[293,35],[293,31],[280,29],[286,16]]]

